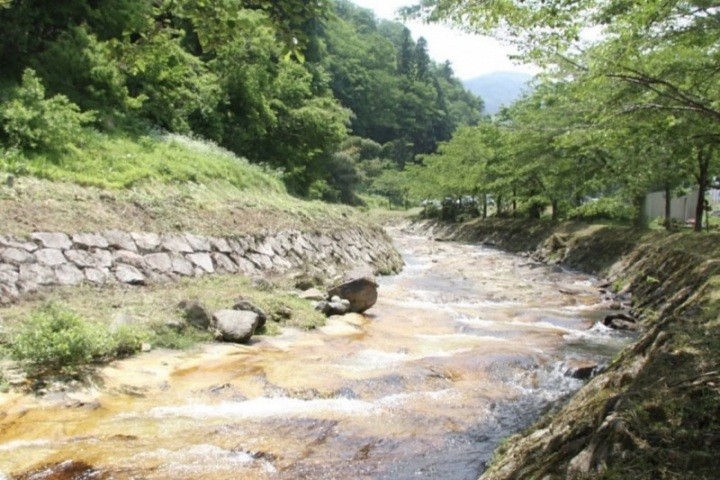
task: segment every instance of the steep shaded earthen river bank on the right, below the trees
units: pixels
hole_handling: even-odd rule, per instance
[[[716,478],[720,459],[720,237],[492,219],[423,223],[605,276],[643,333],[564,406],[496,452],[485,480]]]

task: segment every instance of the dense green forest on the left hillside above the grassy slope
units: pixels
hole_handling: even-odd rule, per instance
[[[3,0],[0,25],[0,169],[14,174],[104,185],[128,142],[168,132],[266,165],[299,196],[400,201],[398,172],[482,118],[424,39],[345,0]]]

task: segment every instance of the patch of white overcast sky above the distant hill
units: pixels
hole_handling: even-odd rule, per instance
[[[369,8],[379,18],[399,20],[396,12],[400,7],[412,5],[413,0],[351,0],[356,5]],[[450,60],[457,75],[468,80],[492,72],[524,72],[535,74],[532,65],[518,65],[508,58],[512,49],[497,40],[480,35],[470,35],[443,25],[425,25],[421,22],[402,22],[410,28],[413,38],[425,37],[433,60]]]

